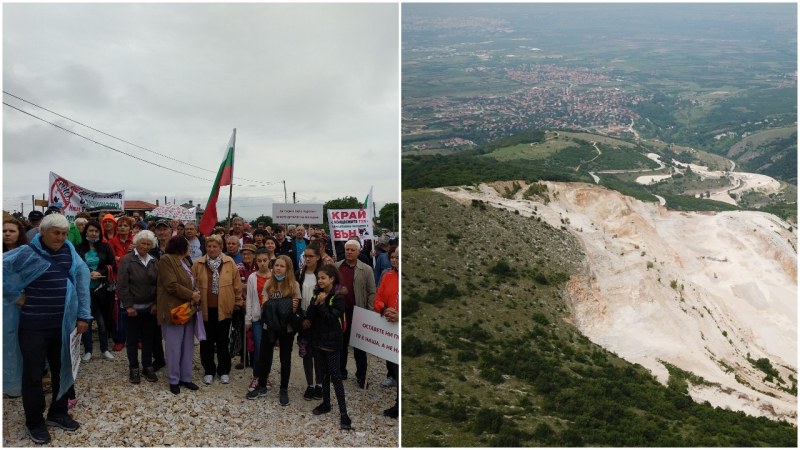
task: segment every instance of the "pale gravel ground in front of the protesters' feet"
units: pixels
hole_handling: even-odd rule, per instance
[[[289,405],[278,404],[280,362],[275,350],[272,375],[275,384],[266,397],[245,399],[252,369],[231,370],[230,384],[218,379],[202,383],[199,346],[195,346],[194,382],[198,391],[169,392],[166,368],[157,372],[158,382],[144,378],[139,385],[128,382],[128,360],[124,350],[112,352],[113,361],[97,352],[81,363],[75,384],[78,405],[71,411],[81,427],[72,433],[50,429],[53,447],[397,447],[397,419],[383,416],[394,404],[396,389],[380,387],[386,378],[383,360],[369,355],[368,388],[355,382],[352,349],[348,358],[349,378],[344,381],[352,431],[339,429],[337,404],[331,413],[315,416],[311,410],[320,401],[303,399],[305,377],[295,345]],[[234,358],[234,365],[238,358]],[[49,378],[45,379],[49,392]],[[333,388],[331,387],[331,395]],[[46,394],[48,404],[49,393]],[[21,398],[3,398],[3,446],[33,447],[25,433]]]

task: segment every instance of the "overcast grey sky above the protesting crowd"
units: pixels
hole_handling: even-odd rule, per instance
[[[127,200],[205,206],[233,128],[233,211],[324,203],[370,186],[399,201],[397,4],[4,4],[3,209],[50,171]],[[204,179],[201,179],[204,178]],[[247,179],[249,181],[245,181]],[[254,181],[274,183],[255,186]],[[227,214],[227,188],[219,213]]]

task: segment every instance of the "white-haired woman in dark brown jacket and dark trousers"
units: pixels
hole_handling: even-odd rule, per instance
[[[122,219],[120,219],[122,222]],[[128,368],[130,382],[139,384],[141,375],[150,382],[158,381],[153,370],[153,336],[156,329],[156,281],[158,279],[158,260],[150,255],[150,249],[157,245],[152,231],[140,231],[133,238],[133,252],[126,254],[119,262],[117,295],[125,308],[125,324],[128,348]],[[142,366],[139,371],[139,348],[142,342]],[[159,343],[160,344],[160,343]]]

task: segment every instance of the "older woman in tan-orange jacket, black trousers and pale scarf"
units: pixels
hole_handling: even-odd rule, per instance
[[[231,317],[233,308],[244,306],[244,298],[239,270],[233,259],[222,253],[221,236],[212,234],[206,238],[206,254],[194,262],[192,273],[200,290],[206,328],[206,340],[200,342],[203,383],[211,384],[214,375],[219,375],[220,382],[227,384],[231,380]]]

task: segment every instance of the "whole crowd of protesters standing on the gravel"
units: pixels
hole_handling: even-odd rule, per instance
[[[194,222],[141,214],[78,214],[73,223],[57,207],[32,211],[28,221],[3,219],[3,389],[21,396],[28,435],[50,441],[48,426],[79,424],[69,350],[81,334],[82,361],[127,353],[130,383],[159,381],[168,390],[200,387],[192,379],[199,341],[202,383],[230,383],[232,367],[252,367],[244,394],[256,400],[273,389],[273,349],[280,361],[278,398],[289,404],[292,353],[297,344],[305,400],[321,400],[315,415],[331,411],[352,429],[345,400],[347,356],[356,306],[399,320],[396,239],[330,242],[322,228],[267,226],[252,233],[241,217],[229,229],[203,236]],[[112,351],[113,350],[113,351]],[[367,385],[367,355],[353,348],[356,385]],[[45,413],[42,380],[50,374]],[[398,387],[397,364],[387,361],[384,388]],[[399,389],[399,387],[398,387]],[[384,414],[398,416],[398,400]]]

